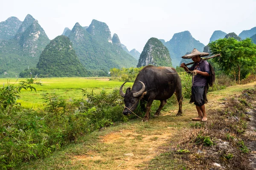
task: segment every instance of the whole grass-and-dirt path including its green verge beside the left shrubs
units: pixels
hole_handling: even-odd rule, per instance
[[[223,107],[226,98],[232,98],[241,91],[255,88],[256,82],[231,86],[220,91],[209,92],[207,112]],[[187,162],[174,159],[171,148],[187,139],[191,118],[197,116],[195,105],[189,99],[183,100],[183,115],[175,116],[178,105],[171,105],[162,115],[148,122],[141,119],[115,123],[111,127],[96,130],[81,138],[76,144],[56,151],[52,156],[28,162],[21,170],[181,170]],[[174,113],[172,113],[174,111]],[[208,114],[208,122],[212,115]],[[204,150],[203,150],[204,151]],[[199,159],[197,157],[195,159]],[[204,160],[204,155],[201,156]],[[199,161],[198,161],[199,162]],[[204,169],[212,168],[211,164]],[[189,169],[189,168],[188,168]],[[195,169],[195,168],[194,168]]]

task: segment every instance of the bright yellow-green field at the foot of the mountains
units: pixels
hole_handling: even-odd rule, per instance
[[[10,84],[18,84],[25,79],[0,79],[0,87]],[[41,82],[42,86],[34,85],[35,91],[22,90],[20,99],[17,102],[26,108],[44,108],[43,94],[55,93],[58,97],[65,99],[66,101],[72,101],[73,99],[81,99],[81,89],[87,89],[87,92],[99,93],[102,90],[112,91],[114,88],[119,88],[123,82],[111,81],[108,78],[86,78],[86,77],[64,77],[64,78],[39,78],[35,82]],[[132,82],[127,82],[126,86],[132,86]]]

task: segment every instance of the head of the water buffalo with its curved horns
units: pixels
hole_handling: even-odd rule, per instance
[[[125,102],[125,109],[123,111],[124,115],[131,114],[131,111],[134,111],[137,108],[139,104],[140,96],[142,96],[143,92],[145,91],[144,83],[141,81],[139,82],[142,84],[142,88],[140,89],[140,91],[137,91],[137,92],[131,92],[131,88],[127,88],[126,92],[124,93],[122,91],[122,88],[126,82],[124,82],[120,87],[119,94],[124,98],[124,102]]]

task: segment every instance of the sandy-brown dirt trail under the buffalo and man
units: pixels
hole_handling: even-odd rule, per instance
[[[210,92],[206,108],[221,108],[225,99],[241,93],[239,89],[253,88],[254,85],[256,82]],[[178,106],[170,111],[162,111],[161,116],[151,118],[149,122],[132,123],[128,129],[99,136],[99,142],[90,147],[86,154],[72,156],[72,164],[84,164],[90,170],[145,169],[151,159],[167,151],[171,139],[182,140],[183,129],[192,122],[192,117],[197,116],[195,106],[188,104],[188,100],[183,101],[183,116],[175,116],[177,109]]]

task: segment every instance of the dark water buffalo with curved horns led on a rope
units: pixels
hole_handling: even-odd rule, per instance
[[[131,114],[140,101],[141,108],[145,110],[143,121],[148,121],[150,116],[150,108],[153,100],[160,100],[160,106],[154,113],[154,117],[159,116],[161,109],[166,104],[166,100],[173,94],[176,95],[179,102],[179,111],[177,115],[182,114],[182,93],[181,93],[181,80],[175,68],[170,67],[155,67],[148,65],[144,67],[137,75],[132,88],[127,88],[126,92],[122,88],[124,82],[119,90],[119,94],[124,97],[125,109],[124,115]],[[145,102],[147,102],[145,108]]]

